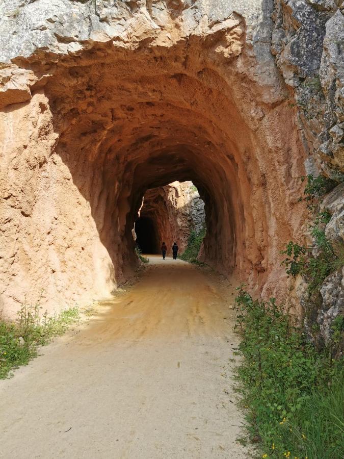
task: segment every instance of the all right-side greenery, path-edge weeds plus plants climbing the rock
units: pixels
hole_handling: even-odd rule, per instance
[[[310,330],[292,326],[274,298],[254,300],[242,286],[235,299],[235,328],[242,338],[237,390],[247,421],[242,441],[257,444],[257,457],[344,457],[344,318],[332,321],[326,346],[314,320],[322,284],[344,266],[342,244],[333,246],[326,238],[331,214],[319,211],[321,197],[337,184],[323,176],[307,177],[300,200],[306,201],[312,219],[312,244],[289,241],[281,252],[287,274],[306,282],[303,299],[307,320],[313,320]]]

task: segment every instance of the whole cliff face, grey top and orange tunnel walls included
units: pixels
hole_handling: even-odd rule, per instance
[[[304,163],[343,168],[338,4],[5,0],[0,17],[5,311],[108,295],[136,267],[143,195],[175,180],[205,202],[206,261],[285,296]]]

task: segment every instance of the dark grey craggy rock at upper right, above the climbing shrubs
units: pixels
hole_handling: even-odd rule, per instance
[[[294,89],[306,172],[335,180],[344,168],[343,8],[342,0],[275,0],[271,41]]]

